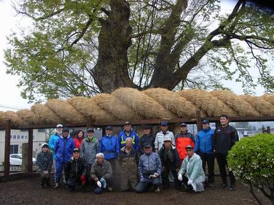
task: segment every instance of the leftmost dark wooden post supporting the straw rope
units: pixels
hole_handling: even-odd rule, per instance
[[[5,121],[5,162],[4,162],[4,176],[10,175],[10,130],[12,121]]]

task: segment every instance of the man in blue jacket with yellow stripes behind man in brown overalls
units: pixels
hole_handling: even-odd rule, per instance
[[[136,132],[132,131],[132,124],[128,121],[125,122],[123,131],[118,135],[119,150],[125,146],[127,137],[132,138],[132,147],[138,152],[139,137]]]

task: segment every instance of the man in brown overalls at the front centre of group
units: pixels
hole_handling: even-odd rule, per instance
[[[138,184],[137,165],[138,152],[132,148],[132,138],[125,139],[125,146],[121,148],[118,156],[121,165],[121,191],[135,190]]]

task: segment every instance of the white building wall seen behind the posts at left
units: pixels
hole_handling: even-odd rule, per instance
[[[28,143],[28,131],[12,130],[10,136],[10,145],[18,145],[18,154],[22,153],[22,144]],[[45,143],[45,130],[34,130],[33,157],[36,158],[38,152]],[[5,159],[5,131],[0,131],[0,163]]]

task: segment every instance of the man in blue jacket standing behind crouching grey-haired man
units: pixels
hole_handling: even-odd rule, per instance
[[[107,126],[105,128],[105,135],[103,135],[103,138],[100,141],[99,152],[104,154],[105,159],[112,166],[113,174],[110,180],[112,180],[112,184],[114,184],[114,177],[116,172],[115,159],[119,154],[119,143],[117,137],[115,137],[112,133],[111,126]]]

